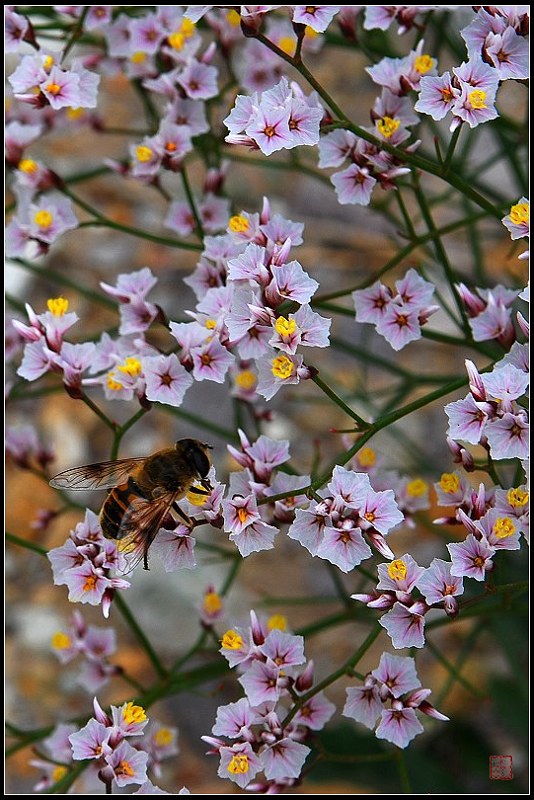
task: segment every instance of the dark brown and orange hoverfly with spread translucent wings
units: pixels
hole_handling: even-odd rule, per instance
[[[179,439],[174,447],[151,456],[67,469],[52,478],[50,485],[84,491],[107,489],[99,517],[104,536],[117,540],[122,552],[135,552],[130,569],[141,558],[144,569],[148,569],[148,550],[170,510],[174,509],[191,526],[178,500],[187,492],[207,497],[212,491],[206,479],[211,449],[197,439]]]

